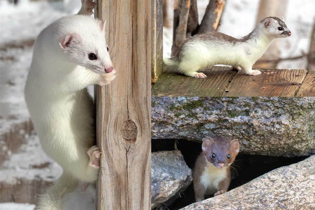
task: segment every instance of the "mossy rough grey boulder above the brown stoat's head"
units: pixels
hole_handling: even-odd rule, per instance
[[[152,138],[230,136],[240,151],[315,154],[315,97],[152,97]]]

